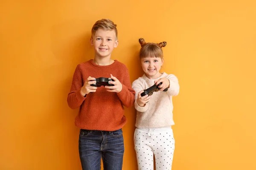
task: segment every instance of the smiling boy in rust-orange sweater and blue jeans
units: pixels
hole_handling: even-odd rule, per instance
[[[127,122],[124,108],[134,103],[127,67],[111,59],[118,45],[116,25],[111,20],[97,21],[91,30],[94,59],[77,65],[67,102],[79,108],[75,125],[80,130],[79,156],[83,170],[122,170],[124,143],[122,127]],[[95,79],[111,77],[113,86],[94,87]]]

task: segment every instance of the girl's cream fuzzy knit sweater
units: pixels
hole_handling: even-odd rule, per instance
[[[151,99],[144,107],[137,104],[138,93],[154,85],[154,80],[148,79],[144,74],[132,83],[135,90],[135,109],[137,110],[136,127],[164,127],[174,125],[172,118],[172,96],[179,94],[180,86],[177,77],[173,74],[163,73],[160,78],[166,77],[170,81],[168,91],[157,91],[151,95]]]

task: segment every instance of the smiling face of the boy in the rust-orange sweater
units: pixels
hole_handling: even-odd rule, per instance
[[[95,57],[110,57],[114,48],[118,45],[114,30],[99,28],[95,36],[90,39],[95,51]]]

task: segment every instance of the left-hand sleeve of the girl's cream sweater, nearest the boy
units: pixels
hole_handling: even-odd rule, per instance
[[[137,111],[139,112],[145,112],[148,110],[148,103],[146,103],[146,105],[144,107],[141,107],[138,105],[137,103],[137,98],[138,98],[138,93],[142,90],[145,90],[144,87],[143,87],[143,81],[145,81],[144,79],[142,78],[139,78],[137,80],[135,80],[133,83],[132,83],[132,88],[135,90],[135,102],[134,102],[134,107]]]

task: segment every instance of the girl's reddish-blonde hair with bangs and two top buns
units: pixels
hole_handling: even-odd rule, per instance
[[[163,59],[163,50],[162,47],[166,46],[166,42],[160,42],[158,44],[148,42],[146,43],[143,38],[139,39],[141,48],[140,48],[140,59],[145,57],[157,57]]]

